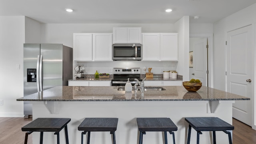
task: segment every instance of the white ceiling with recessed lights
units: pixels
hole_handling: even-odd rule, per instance
[[[0,0],[0,16],[73,24],[174,23],[190,16],[190,23],[214,23],[254,3],[256,0]],[[172,12],[165,12],[167,8]]]

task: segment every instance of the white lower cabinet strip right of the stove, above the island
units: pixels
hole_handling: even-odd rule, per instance
[[[182,86],[181,80],[145,80],[144,86]]]

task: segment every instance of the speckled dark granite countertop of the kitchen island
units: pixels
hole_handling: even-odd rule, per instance
[[[188,92],[183,86],[162,86],[166,90],[125,92],[119,86],[56,86],[31,94],[17,101],[194,101],[194,100],[250,100],[244,96],[231,94],[202,86],[197,92]],[[153,86],[149,86],[153,87]]]

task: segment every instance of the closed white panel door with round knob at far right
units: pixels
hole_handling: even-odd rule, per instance
[[[227,33],[227,92],[252,99],[252,26]],[[252,126],[252,100],[236,100],[233,117]]]

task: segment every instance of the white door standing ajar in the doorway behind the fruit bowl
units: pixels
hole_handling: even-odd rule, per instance
[[[202,82],[203,86],[207,85],[207,38],[196,40],[193,45],[193,70],[194,79]]]

